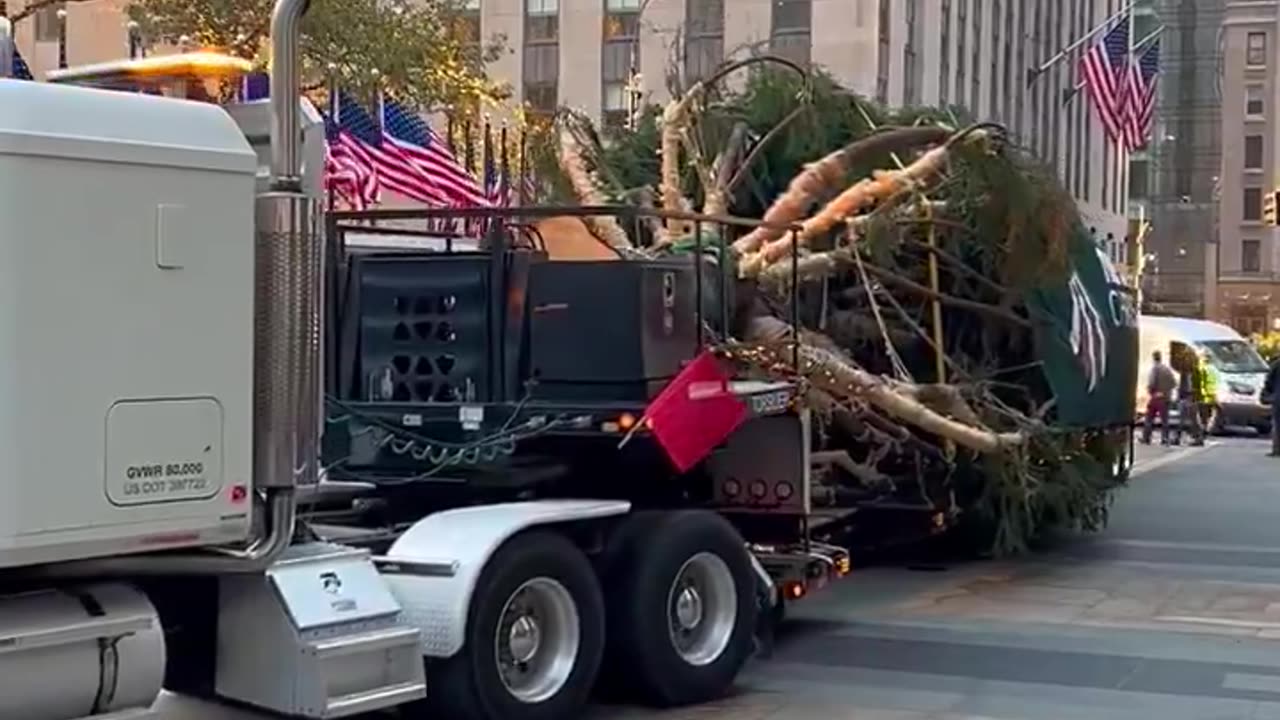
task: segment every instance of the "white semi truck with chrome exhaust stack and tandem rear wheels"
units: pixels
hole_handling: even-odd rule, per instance
[[[275,4],[266,101],[189,100],[247,69],[205,54],[0,77],[0,719],[160,720],[163,689],[448,720],[573,717],[598,682],[723,693],[758,618],[847,553],[616,496],[301,514],[376,489],[319,468],[306,5]],[[808,420],[787,427],[803,465]]]

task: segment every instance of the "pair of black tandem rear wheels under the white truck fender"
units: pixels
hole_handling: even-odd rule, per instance
[[[598,565],[553,530],[507,541],[472,592],[462,650],[428,665],[430,716],[567,720],[598,678],[658,706],[732,685],[756,615],[732,525],[704,511],[636,512]]]

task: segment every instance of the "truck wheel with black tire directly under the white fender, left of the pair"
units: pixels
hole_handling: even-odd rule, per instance
[[[586,556],[554,533],[521,533],[480,573],[462,650],[429,659],[420,717],[576,717],[603,655],[604,600]]]

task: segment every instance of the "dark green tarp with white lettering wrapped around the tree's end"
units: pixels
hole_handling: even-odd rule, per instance
[[[1133,288],[1083,231],[1071,274],[1027,297],[1037,354],[1056,396],[1056,421],[1100,428],[1133,423],[1138,311]]]

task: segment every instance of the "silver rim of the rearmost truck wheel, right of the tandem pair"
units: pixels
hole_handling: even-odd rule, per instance
[[[710,552],[690,557],[667,592],[667,629],[676,653],[710,665],[728,647],[737,623],[737,587],[724,561]]]

